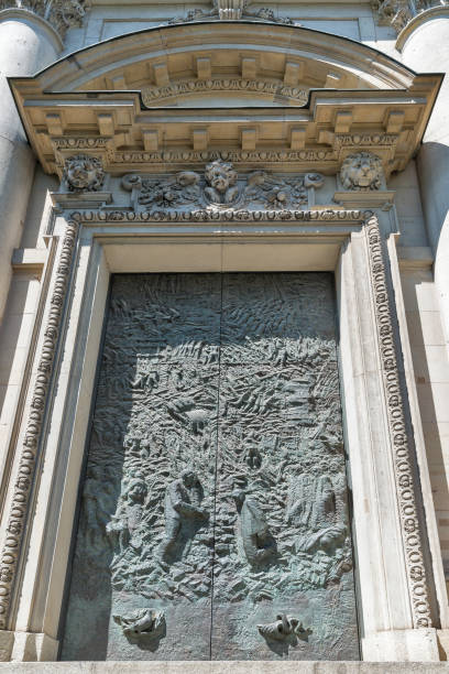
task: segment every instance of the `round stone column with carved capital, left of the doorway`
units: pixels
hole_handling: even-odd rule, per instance
[[[86,0],[7,0],[0,11],[0,322],[19,246],[35,161],[8,85],[53,63],[68,28],[80,25]]]

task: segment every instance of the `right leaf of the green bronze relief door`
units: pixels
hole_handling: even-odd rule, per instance
[[[358,659],[331,276],[222,296],[211,657]]]

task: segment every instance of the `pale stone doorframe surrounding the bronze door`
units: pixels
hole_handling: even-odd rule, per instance
[[[363,207],[374,206],[370,198],[359,195]],[[2,659],[57,657],[110,274],[331,271],[362,657],[439,660],[432,626],[447,627],[447,595],[395,210],[322,208],[296,211],[295,218],[161,222],[99,209],[63,211],[52,222],[2,513]]]

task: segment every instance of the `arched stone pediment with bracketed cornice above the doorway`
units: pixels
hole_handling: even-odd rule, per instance
[[[441,77],[298,26],[193,22],[70,54],[11,88],[45,171],[79,151],[123,174],[204,166],[335,174],[374,151],[386,177],[416,151]]]

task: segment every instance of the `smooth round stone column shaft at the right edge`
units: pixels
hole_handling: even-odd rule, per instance
[[[449,7],[435,7],[415,17],[401,33],[397,48],[404,64],[417,73],[445,74],[417,165],[435,254],[435,283],[449,345]]]

